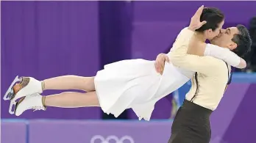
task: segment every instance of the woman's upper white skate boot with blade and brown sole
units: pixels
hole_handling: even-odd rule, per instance
[[[18,82],[18,83],[17,83]],[[15,84],[18,84],[17,86]],[[16,88],[15,88],[15,86]],[[21,77],[14,79],[13,83],[10,85],[9,89],[4,95],[4,100],[11,100],[9,113],[14,114],[12,111],[13,105],[16,104],[18,98],[23,98],[26,95],[32,95],[34,93],[42,93],[42,85],[41,82],[32,77]]]

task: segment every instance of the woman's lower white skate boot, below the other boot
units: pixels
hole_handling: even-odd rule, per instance
[[[27,95],[26,97],[21,98],[16,103],[14,113],[16,116],[20,116],[24,111],[29,109],[36,110],[46,110],[46,107],[43,106],[42,95],[38,93]]]

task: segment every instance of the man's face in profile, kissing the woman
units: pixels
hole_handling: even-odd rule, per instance
[[[221,29],[221,32],[213,40],[210,40],[210,43],[233,50],[237,47],[237,44],[232,41],[235,34],[239,34],[238,28],[236,27]]]

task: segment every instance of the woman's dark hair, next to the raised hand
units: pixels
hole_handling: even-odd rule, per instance
[[[215,31],[219,23],[224,21],[224,14],[215,7],[205,7],[202,11],[200,21],[207,21],[207,23],[199,29],[196,29],[196,32],[204,32],[207,29]]]

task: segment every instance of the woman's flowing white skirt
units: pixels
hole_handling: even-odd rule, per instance
[[[102,111],[118,117],[125,109],[132,108],[140,120],[149,120],[157,100],[174,92],[191,76],[193,72],[188,74],[171,63],[166,63],[161,76],[154,68],[154,61],[129,59],[105,65],[96,74],[94,83]]]

